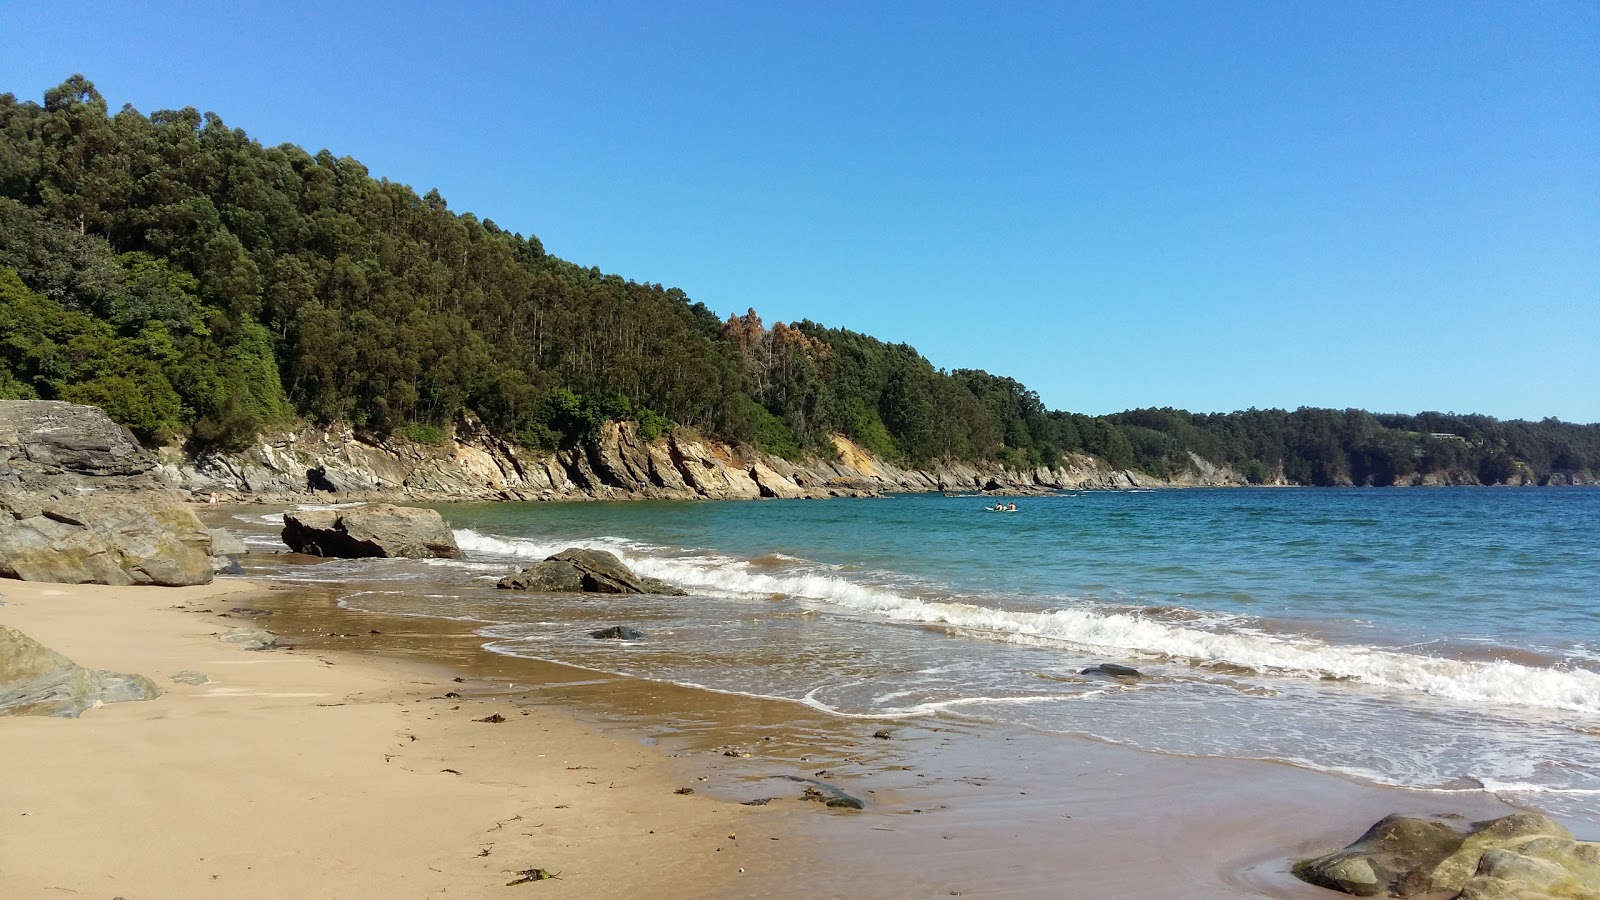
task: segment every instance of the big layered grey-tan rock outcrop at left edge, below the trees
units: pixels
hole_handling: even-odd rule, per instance
[[[0,400],[0,577],[205,585],[211,535],[96,407]]]

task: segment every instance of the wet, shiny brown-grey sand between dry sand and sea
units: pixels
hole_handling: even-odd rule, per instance
[[[770,799],[739,809],[779,817],[771,830],[784,862],[773,871],[782,874],[747,871],[702,895],[1328,898],[1290,874],[1294,858],[1341,847],[1392,812],[1510,810],[1478,793],[1378,788],[949,717],[848,719],[510,658],[482,650],[470,623],[338,609],[339,596],[362,588],[282,585],[262,605],[275,610],[274,628],[307,647],[443,663],[466,679],[466,697],[576,714],[658,748],[699,796]],[[867,807],[805,802],[794,777]]]

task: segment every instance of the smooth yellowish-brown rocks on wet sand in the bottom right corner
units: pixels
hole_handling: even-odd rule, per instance
[[[1294,874],[1355,897],[1587,898],[1600,897],[1600,844],[1574,841],[1533,812],[1466,830],[1390,815],[1349,847],[1302,860]]]

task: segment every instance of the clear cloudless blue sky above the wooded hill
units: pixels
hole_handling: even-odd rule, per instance
[[[0,3],[722,315],[1053,408],[1600,421],[1600,3]]]

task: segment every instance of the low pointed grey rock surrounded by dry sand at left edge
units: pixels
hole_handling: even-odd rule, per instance
[[[138,674],[86,669],[21,631],[0,625],[0,716],[77,719],[123,700],[154,700],[155,682]]]

